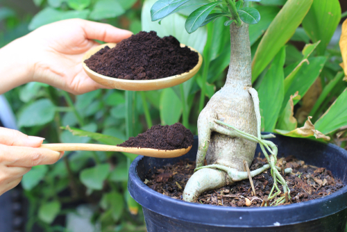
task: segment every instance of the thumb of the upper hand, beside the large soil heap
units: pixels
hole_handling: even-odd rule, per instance
[[[99,22],[91,22],[87,20],[81,20],[81,26],[85,31],[85,38],[90,40],[101,40],[104,42],[120,42],[130,35],[133,35],[130,31],[119,29],[110,24],[102,24]]]

